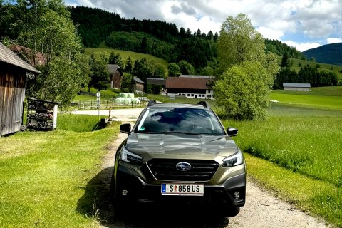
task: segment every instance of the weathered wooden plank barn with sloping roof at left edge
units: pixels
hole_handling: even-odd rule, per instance
[[[0,137],[20,130],[26,76],[41,73],[0,43]]]

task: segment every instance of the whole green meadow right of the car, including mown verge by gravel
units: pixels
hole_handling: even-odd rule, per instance
[[[313,93],[274,91],[269,118],[224,120],[247,152],[247,172],[296,207],[342,226],[341,87]],[[259,157],[259,158],[258,158]],[[260,159],[261,158],[261,159]]]

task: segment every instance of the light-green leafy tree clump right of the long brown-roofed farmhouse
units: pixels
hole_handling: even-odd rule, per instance
[[[214,86],[217,103],[239,119],[266,118],[270,89],[279,71],[276,55],[266,55],[264,38],[245,14],[224,21],[217,46],[224,72]]]

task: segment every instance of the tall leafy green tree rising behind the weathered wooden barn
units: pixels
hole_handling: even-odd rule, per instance
[[[21,25],[16,43],[31,48],[33,61],[38,51],[45,60],[41,66],[34,63],[42,73],[28,84],[26,94],[68,105],[88,81],[88,71],[83,72],[81,39],[70,13],[61,0],[19,0],[15,7],[21,12],[14,23]]]

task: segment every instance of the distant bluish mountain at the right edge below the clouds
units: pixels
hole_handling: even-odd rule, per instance
[[[342,66],[342,43],[331,43],[302,52],[309,60],[311,57],[319,63],[330,63]]]

